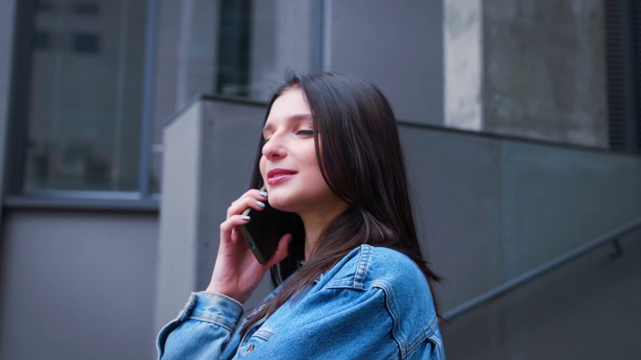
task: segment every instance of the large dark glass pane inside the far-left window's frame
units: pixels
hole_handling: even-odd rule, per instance
[[[24,193],[138,190],[147,4],[100,6],[91,22],[69,12],[33,22],[28,115],[16,119],[27,123]]]

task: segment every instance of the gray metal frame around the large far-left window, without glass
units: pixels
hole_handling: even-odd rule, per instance
[[[28,134],[29,90],[31,88],[31,52],[35,30],[37,0],[16,2],[12,47],[12,79],[4,163],[3,206],[10,208],[96,208],[158,211],[160,193],[149,192],[151,142],[153,137],[154,95],[156,76],[156,42],[158,40],[159,1],[147,0],[144,74],[140,131],[138,188],[135,192],[37,190],[23,192]]]

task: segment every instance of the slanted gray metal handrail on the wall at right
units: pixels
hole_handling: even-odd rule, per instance
[[[547,263],[539,265],[536,268],[533,268],[532,270],[525,272],[524,274],[514,277],[510,281],[504,282],[503,284],[495,287],[494,289],[487,291],[486,293],[483,293],[478,297],[475,297],[474,299],[463,302],[463,304],[460,304],[459,306],[454,307],[454,309],[447,311],[445,313],[444,318],[447,321],[454,320],[455,318],[458,318],[465,313],[469,313],[469,311],[471,311],[472,309],[481,307],[487,304],[488,302],[490,302],[491,300],[494,300],[495,298],[501,295],[504,295],[505,293],[513,291],[516,288],[519,288],[520,286],[523,286],[524,284],[534,279],[537,279],[538,277],[544,274],[547,274],[548,272],[551,272],[552,270],[560,266],[567,265],[567,263],[569,263],[570,261],[577,259],[580,256],[583,256],[588,252],[597,249],[598,247],[601,247],[601,245],[610,243],[611,241],[615,245],[617,252],[620,253],[620,247],[618,242],[619,237],[629,233],[630,231],[637,229],[637,227],[640,227],[640,226],[641,226],[641,218],[637,218],[636,220],[632,220],[627,224],[617,227],[616,229],[613,229],[612,231],[609,231],[608,233],[605,233],[599,236],[598,238],[595,238],[594,240],[589,241],[588,243],[585,243],[577,247],[574,250],[566,252],[565,254],[563,254],[562,256],[559,256],[558,258],[552,259],[551,261],[547,261]]]

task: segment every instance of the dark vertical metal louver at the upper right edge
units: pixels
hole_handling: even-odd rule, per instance
[[[603,0],[610,148],[640,151],[641,4]]]

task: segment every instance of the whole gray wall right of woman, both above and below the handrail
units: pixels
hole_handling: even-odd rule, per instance
[[[444,309],[641,216],[641,159],[401,126]],[[640,231],[443,327],[453,359],[641,355]],[[598,343],[585,339],[599,338]],[[617,348],[606,344],[616,344]],[[542,345],[544,344],[544,345]]]

